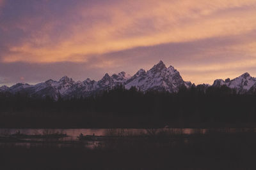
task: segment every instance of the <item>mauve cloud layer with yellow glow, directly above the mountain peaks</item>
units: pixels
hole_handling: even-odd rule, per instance
[[[174,66],[184,80],[196,84],[213,83],[217,78],[235,78],[245,72],[256,76],[255,55],[244,53],[244,47],[241,47],[243,51],[239,48],[252,43],[255,34],[249,32],[225,38],[142,46],[93,55],[87,62],[0,63],[0,76],[9,78],[4,84],[20,82],[21,76],[26,78],[27,83],[38,83],[49,78],[59,80],[64,75],[81,81],[88,77],[100,80],[105,73],[125,71],[132,75],[140,68],[148,70],[160,59],[166,66]]]

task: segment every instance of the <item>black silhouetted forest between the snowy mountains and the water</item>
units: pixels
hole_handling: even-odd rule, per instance
[[[256,122],[256,94],[228,87],[146,93],[118,86],[81,99],[0,94],[1,127],[164,127]]]

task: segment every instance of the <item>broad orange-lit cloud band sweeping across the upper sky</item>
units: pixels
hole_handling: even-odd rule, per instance
[[[1,2],[1,1],[0,1]],[[58,40],[52,22],[10,46],[3,62],[86,62],[92,54],[137,46],[196,41],[244,34],[256,29],[255,0],[119,1],[115,5],[74,8],[80,20],[67,25]],[[90,27],[87,18],[98,17]],[[45,26],[46,25],[46,26]],[[22,25],[29,31],[29,27]],[[52,41],[54,43],[52,43]],[[245,45],[246,46],[246,45]]]

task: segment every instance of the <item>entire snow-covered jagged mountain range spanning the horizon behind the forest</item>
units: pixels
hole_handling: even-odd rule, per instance
[[[102,90],[110,90],[117,85],[124,85],[125,89],[136,87],[143,92],[148,90],[178,92],[180,87],[190,88],[195,86],[190,81],[184,81],[173,66],[166,67],[163,61],[154,65],[148,71],[140,69],[136,74],[130,76],[124,71],[109,76],[106,73],[99,81],[90,80],[87,78],[84,81],[74,81],[72,78],[63,76],[59,81],[47,80],[36,85],[29,85],[28,83],[17,83],[12,87],[2,86],[0,92],[10,92],[15,94],[17,92],[26,93],[33,97],[52,97],[57,100],[59,97],[72,98],[72,97],[87,97],[91,96]],[[225,81],[218,79],[215,80],[212,86],[220,87],[226,85],[231,89],[236,89],[239,93],[255,92],[256,91],[256,78],[250,76],[249,73],[244,73],[241,76],[230,80],[227,78]],[[205,88],[211,85],[204,84]]]

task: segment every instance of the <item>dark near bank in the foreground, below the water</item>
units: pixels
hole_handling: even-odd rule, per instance
[[[150,134],[146,140],[105,141],[95,148],[0,147],[0,169],[255,169],[255,132]]]

